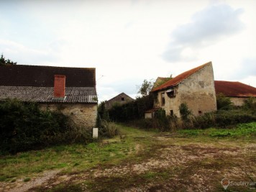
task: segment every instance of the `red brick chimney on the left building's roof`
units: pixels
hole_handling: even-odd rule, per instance
[[[65,76],[54,76],[54,99],[65,99]]]

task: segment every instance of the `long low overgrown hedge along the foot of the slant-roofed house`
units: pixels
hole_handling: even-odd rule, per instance
[[[165,116],[157,112],[154,119],[138,119],[130,124],[142,129],[176,131],[179,129],[206,129],[209,127],[226,128],[235,124],[256,122],[256,116],[242,109],[220,110],[201,116],[189,116],[186,120],[175,116]]]

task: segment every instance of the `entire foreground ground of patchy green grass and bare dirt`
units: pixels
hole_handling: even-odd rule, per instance
[[[89,145],[1,156],[0,191],[224,191],[222,178],[256,180],[256,123],[174,133],[119,129],[121,136]],[[24,188],[37,181],[40,187]]]

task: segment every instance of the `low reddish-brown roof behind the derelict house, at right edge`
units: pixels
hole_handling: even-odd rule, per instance
[[[256,97],[256,88],[240,82],[214,81],[216,94],[230,97]]]

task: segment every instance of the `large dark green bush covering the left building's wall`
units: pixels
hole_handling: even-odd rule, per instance
[[[41,111],[35,103],[6,100],[0,103],[0,149],[6,152],[34,150],[48,145],[86,142],[88,135],[70,127],[60,112]]]

